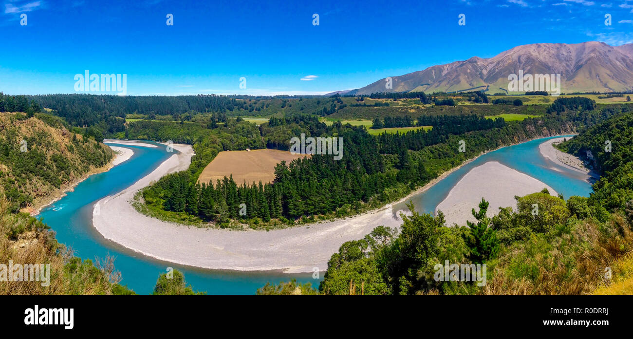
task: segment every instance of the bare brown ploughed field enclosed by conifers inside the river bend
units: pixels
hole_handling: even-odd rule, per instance
[[[222,151],[206,165],[198,182],[210,182],[215,185],[217,179],[229,177],[233,174],[233,180],[241,185],[254,182],[263,184],[275,180],[275,165],[285,160],[307,157],[308,155],[291,154],[289,151],[280,150],[251,150],[251,151]]]

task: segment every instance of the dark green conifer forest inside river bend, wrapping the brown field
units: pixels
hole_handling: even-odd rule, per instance
[[[555,135],[574,129],[572,121],[558,116],[512,124],[502,118],[491,120],[477,115],[420,119],[423,124],[434,124],[434,128],[375,137],[364,127],[340,122],[328,126],[314,116],[272,118],[260,126],[267,147],[287,150],[289,139],[301,133],[338,136],[344,140],[344,158],[313,155],[280,163],[273,183],[234,182],[231,177],[199,183],[201,166],[211,160],[206,158],[194,162],[189,171],[163,177],[143,191],[143,198],[155,210],[198,217],[221,227],[230,219],[253,226],[271,219],[294,224],[302,218],[312,221],[314,217],[342,217],[404,196],[482,151],[517,139],[536,138],[544,131]],[[458,150],[462,139],[468,144],[465,152]],[[204,152],[206,147],[194,143],[196,153]],[[239,215],[242,203],[248,206],[246,215]]]

